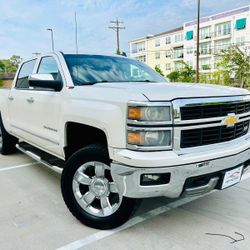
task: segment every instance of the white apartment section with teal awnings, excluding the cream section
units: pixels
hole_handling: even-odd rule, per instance
[[[196,67],[197,21],[183,25],[185,36],[184,61]],[[218,13],[200,20],[200,71],[216,70],[220,51],[237,44],[243,51],[250,49],[250,7]]]

